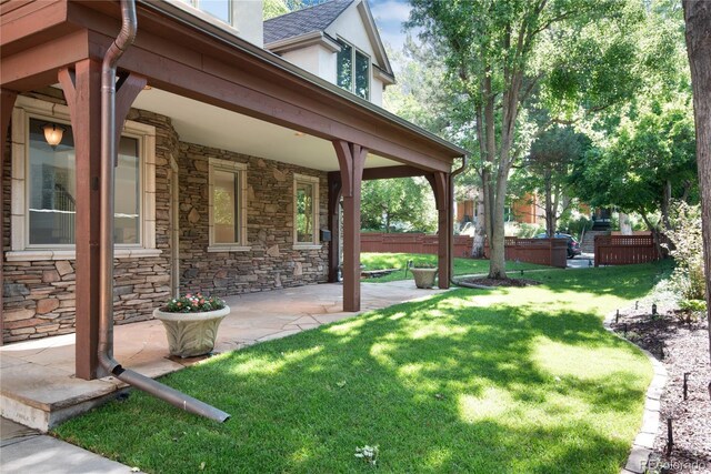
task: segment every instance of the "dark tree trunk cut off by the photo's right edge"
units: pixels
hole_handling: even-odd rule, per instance
[[[711,2],[684,0],[683,8],[697,128],[707,312],[708,321],[711,321]],[[709,355],[711,356],[711,324],[709,324]],[[709,391],[711,393],[711,383]]]

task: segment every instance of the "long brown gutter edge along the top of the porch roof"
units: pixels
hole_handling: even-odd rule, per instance
[[[324,79],[311,74],[310,72],[304,71],[303,69],[292,64],[291,62],[279,58],[277,54],[259,48],[256,44],[252,44],[241,38],[234,37],[223,29],[216,27],[210,22],[196,18],[190,13],[171,6],[170,3],[152,0],[137,1],[142,8],[158,12],[161,16],[166,16],[171,20],[194,30],[197,33],[199,33],[199,36],[207,34],[212,40],[217,40],[218,42],[229,47],[230,49],[238,50],[240,53],[244,53],[258,59],[264,68],[269,68],[273,72],[276,72],[276,69],[277,71],[290,77],[293,80],[308,82],[311,89],[322,94],[323,102],[333,103],[333,101],[339,101],[347,107],[353,108],[357,113],[369,113],[375,120],[383,120],[390,124],[395,124],[397,127],[402,129],[404,133],[414,133],[420,139],[427,139],[430,144],[440,148],[442,151],[445,151],[445,154],[448,154],[451,159],[469,154],[467,150],[450,143],[447,140],[437,137],[435,134],[421,129],[391,112],[388,112],[387,110],[371,103],[370,101],[361,99],[356,94],[352,94],[339,88],[338,85],[332,84]],[[91,1],[86,2],[86,4],[89,7],[96,6],[96,3]],[[118,13],[118,8],[116,11]],[[139,34],[140,29],[141,27],[139,23]]]

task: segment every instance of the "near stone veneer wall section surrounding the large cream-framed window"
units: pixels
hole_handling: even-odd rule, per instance
[[[36,95],[37,97],[37,95]],[[57,98],[38,97],[59,102]],[[158,256],[114,260],[114,321],[118,324],[151,317],[170,296],[169,155],[178,148],[178,134],[167,117],[132,110],[129,119],[156,127],[156,246]],[[10,152],[3,165],[3,216],[10,215]],[[10,248],[10,222],[2,236]],[[4,258],[4,255],[3,255]],[[74,332],[76,261],[3,262],[3,342]]]

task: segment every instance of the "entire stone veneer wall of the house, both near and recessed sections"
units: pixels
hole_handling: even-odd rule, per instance
[[[37,97],[37,95],[36,95]],[[57,98],[38,97],[56,102]],[[326,173],[181,143],[170,118],[131,110],[129,120],[156,127],[156,246],[158,256],[117,259],[114,321],[151,319],[170,296],[170,157],[179,164],[181,292],[228,295],[326,282],[328,244],[320,250],[293,249],[293,173],[319,177],[319,228],[326,226]],[[208,160],[210,157],[248,163],[248,243],[250,251],[207,252]],[[2,218],[3,249],[10,248],[10,143],[4,151]],[[4,255],[2,256],[4,258]],[[3,342],[74,332],[76,262],[4,261]]]

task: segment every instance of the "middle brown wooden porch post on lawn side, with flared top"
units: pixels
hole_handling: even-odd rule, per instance
[[[360,311],[360,198],[368,150],[333,140],[343,190],[343,311]]]

